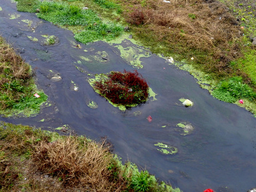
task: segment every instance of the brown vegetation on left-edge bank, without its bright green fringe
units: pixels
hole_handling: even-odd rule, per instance
[[[0,37],[0,109],[11,107],[31,91],[28,63]]]

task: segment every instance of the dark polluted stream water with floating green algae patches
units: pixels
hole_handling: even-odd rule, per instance
[[[2,116],[1,121],[46,130],[68,126],[91,139],[107,137],[123,161],[184,192],[256,187],[256,118],[251,113],[214,99],[189,73],[129,38],[80,44],[70,31],[18,12],[15,5],[1,0],[0,34],[35,70],[37,87],[49,98],[35,117]],[[54,37],[53,45],[44,43],[48,37]],[[137,69],[155,93],[125,111],[87,81],[92,74],[124,69]],[[181,98],[193,106],[183,106]]]

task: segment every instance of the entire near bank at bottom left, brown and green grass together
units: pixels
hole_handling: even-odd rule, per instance
[[[180,191],[110,151],[104,139],[0,122],[0,191]]]

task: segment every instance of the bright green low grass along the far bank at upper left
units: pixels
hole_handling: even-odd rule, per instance
[[[73,2],[76,3],[76,1],[71,1]],[[68,3],[65,1],[19,0],[17,9],[27,12],[36,12],[36,9],[39,9],[38,18],[73,30],[75,39],[84,44],[99,40],[109,41],[123,33],[121,25],[111,21],[102,21],[93,10],[83,10],[83,6]],[[113,3],[106,3],[103,0],[97,3],[109,8],[114,6]]]

